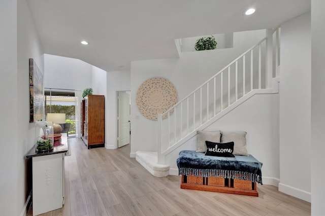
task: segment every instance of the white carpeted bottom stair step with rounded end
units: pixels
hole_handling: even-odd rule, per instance
[[[152,175],[164,177],[169,175],[169,165],[158,164],[157,152],[137,151],[136,160]]]

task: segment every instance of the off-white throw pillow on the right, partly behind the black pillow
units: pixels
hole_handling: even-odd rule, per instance
[[[234,155],[248,155],[246,149],[246,134],[245,131],[222,131],[221,142],[234,142]]]

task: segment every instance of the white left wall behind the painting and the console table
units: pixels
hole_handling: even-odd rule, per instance
[[[18,1],[18,24],[17,24],[17,44],[18,44],[18,127],[24,127],[18,137],[18,200],[17,210],[21,211],[26,198],[26,178],[31,170],[26,170],[26,153],[34,147],[35,124],[29,122],[29,64],[28,59],[34,58],[36,64],[44,75],[44,52],[38,38],[34,23],[32,21],[26,1]],[[11,87],[12,88],[12,87]],[[23,126],[24,125],[24,126]],[[28,172],[28,173],[26,173]],[[28,188],[30,190],[30,188]],[[29,192],[29,191],[28,191]]]

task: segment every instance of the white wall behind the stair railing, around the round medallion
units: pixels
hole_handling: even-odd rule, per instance
[[[236,32],[234,48],[184,52],[179,58],[131,62],[131,156],[138,150],[156,150],[156,121],[143,117],[136,105],[136,92],[145,80],[166,78],[176,87],[179,100],[183,99],[265,35],[265,30]]]

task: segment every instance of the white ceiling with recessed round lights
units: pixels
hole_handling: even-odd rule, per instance
[[[175,39],[278,27],[310,0],[27,0],[44,52],[106,71],[178,57]],[[243,12],[256,8],[251,16]],[[89,45],[81,45],[86,40]]]

